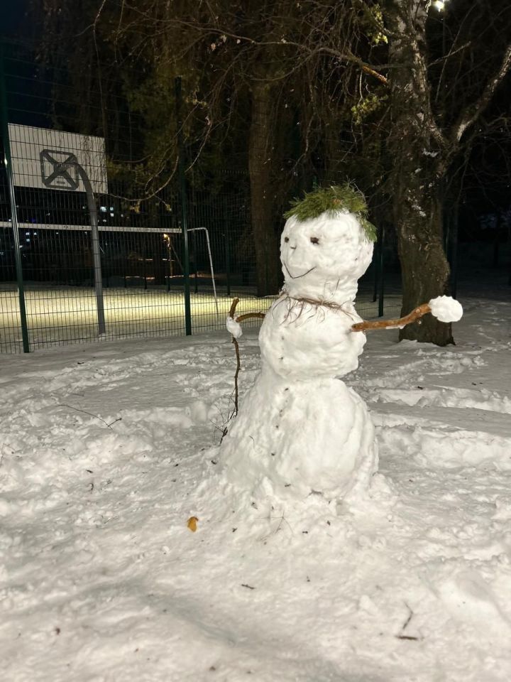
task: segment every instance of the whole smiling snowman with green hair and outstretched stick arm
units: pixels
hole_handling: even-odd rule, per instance
[[[378,468],[374,426],[341,379],[358,367],[363,331],[426,312],[461,317],[461,306],[441,297],[402,320],[363,322],[354,301],[375,241],[366,213],[361,193],[344,185],[309,193],[286,214],[284,286],[260,328],[260,374],[221,445],[224,476],[251,499],[368,497]],[[241,335],[236,318],[227,328]]]

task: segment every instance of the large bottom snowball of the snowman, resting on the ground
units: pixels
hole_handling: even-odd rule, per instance
[[[373,422],[344,381],[290,381],[265,367],[229,425],[221,464],[254,501],[365,498],[378,468]]]

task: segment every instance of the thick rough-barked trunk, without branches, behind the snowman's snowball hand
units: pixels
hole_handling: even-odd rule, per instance
[[[441,180],[444,148],[431,109],[427,77],[426,0],[388,0],[391,31],[392,129],[387,148],[392,160],[393,215],[402,271],[402,315],[449,289],[449,263],[443,246]],[[400,330],[400,339],[454,343],[451,325],[432,317]]]

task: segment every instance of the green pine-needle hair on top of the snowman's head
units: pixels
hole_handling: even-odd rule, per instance
[[[354,213],[360,221],[370,242],[376,241],[376,228],[368,221],[366,198],[350,183],[331,185],[305,193],[303,199],[291,202],[291,208],[284,214],[285,218],[295,216],[300,222],[317,218],[322,213],[335,217],[339,213]]]

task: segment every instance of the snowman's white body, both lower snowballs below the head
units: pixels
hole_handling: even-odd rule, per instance
[[[221,448],[227,480],[254,499],[367,492],[378,467],[368,408],[344,381],[365,335],[353,303],[284,294],[260,329],[262,367]]]

